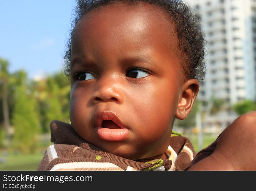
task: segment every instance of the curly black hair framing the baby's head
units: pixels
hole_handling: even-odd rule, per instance
[[[201,30],[200,17],[192,12],[192,9],[181,0],[77,0],[75,17],[72,19],[70,38],[67,42],[64,56],[64,73],[70,76],[71,39],[74,27],[81,17],[99,7],[114,3],[136,4],[146,2],[154,4],[166,10],[170,19],[174,22],[182,59],[184,74],[187,79],[197,79],[202,82],[205,78],[206,65],[205,34]]]

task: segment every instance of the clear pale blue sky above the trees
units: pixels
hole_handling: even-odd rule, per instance
[[[75,0],[1,0],[0,57],[29,78],[60,71]]]

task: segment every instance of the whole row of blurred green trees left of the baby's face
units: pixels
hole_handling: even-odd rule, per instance
[[[9,73],[8,61],[4,59],[1,59],[0,74],[1,90],[4,79],[8,79],[7,99],[3,100],[3,94],[0,94],[0,102],[5,101],[8,106],[8,119],[12,129],[10,145],[25,153],[34,151],[38,144],[38,135],[49,134],[52,120],[69,122],[69,81],[61,72],[40,80],[28,79],[24,70]],[[3,128],[3,104],[0,104],[0,110],[1,148],[6,147],[3,143],[7,137],[7,130]]]

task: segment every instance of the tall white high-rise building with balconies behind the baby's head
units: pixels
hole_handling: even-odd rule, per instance
[[[202,18],[208,42],[207,74],[199,99],[231,105],[256,97],[256,0],[184,0]],[[223,125],[234,115],[222,116]],[[228,119],[230,118],[230,119]],[[212,119],[216,120],[216,119]]]

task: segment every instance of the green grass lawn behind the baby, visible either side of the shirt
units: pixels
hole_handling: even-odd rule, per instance
[[[192,142],[194,149],[198,152],[198,139],[197,135],[185,135]],[[211,144],[217,136],[205,135],[203,139],[203,148]],[[44,150],[45,151],[45,150]],[[33,154],[19,154],[9,152],[5,157],[6,163],[0,161],[0,170],[36,170],[41,162],[44,151],[36,152]],[[0,151],[0,158],[3,157],[3,152]]]

